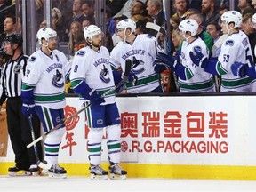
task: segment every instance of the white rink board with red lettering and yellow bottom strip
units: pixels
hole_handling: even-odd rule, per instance
[[[68,98],[67,116],[81,108]],[[118,97],[122,165],[131,177],[256,180],[255,96]],[[70,175],[88,175],[84,113],[70,120],[60,164]],[[105,134],[106,136],[106,134]],[[102,161],[108,168],[103,138]],[[9,144],[0,174],[13,165]]]

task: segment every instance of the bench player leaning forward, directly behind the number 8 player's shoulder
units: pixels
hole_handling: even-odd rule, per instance
[[[121,38],[112,52],[110,62],[113,68],[122,68],[124,72],[125,60],[132,60],[132,72],[138,76],[135,86],[126,84],[123,93],[163,92],[160,76],[153,68],[157,52],[164,52],[157,45],[156,38],[148,34],[135,35],[136,24],[132,19],[125,19],[116,25],[117,35]]]

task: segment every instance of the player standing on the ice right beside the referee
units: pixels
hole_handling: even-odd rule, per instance
[[[54,30],[41,28],[36,36],[41,49],[28,59],[21,90],[22,112],[25,116],[36,112],[44,132],[48,132],[65,119],[65,82],[70,73],[70,64],[64,53],[55,49],[57,33]],[[66,177],[66,170],[58,164],[60,142],[65,130],[63,125],[44,140],[44,159],[47,164],[52,164],[48,170],[49,177]]]

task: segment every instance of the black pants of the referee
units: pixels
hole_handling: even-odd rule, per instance
[[[28,170],[31,164],[36,164],[34,148],[26,146],[32,142],[28,118],[21,111],[22,100],[20,97],[8,98],[6,102],[7,127],[15,155],[16,166]],[[40,136],[40,121],[38,116],[32,118],[35,137]],[[36,144],[39,159],[42,160],[41,143]]]

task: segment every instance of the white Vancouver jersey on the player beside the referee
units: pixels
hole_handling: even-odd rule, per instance
[[[48,56],[41,50],[28,59],[22,91],[34,89],[34,100],[38,106],[60,109],[66,106],[65,83],[70,64],[64,53],[53,50]]]

